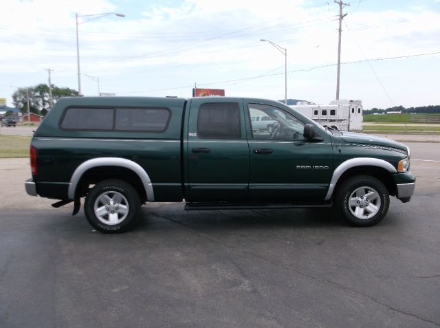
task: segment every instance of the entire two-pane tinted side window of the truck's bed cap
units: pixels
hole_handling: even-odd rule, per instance
[[[61,128],[100,131],[165,131],[170,111],[165,108],[68,108]]]

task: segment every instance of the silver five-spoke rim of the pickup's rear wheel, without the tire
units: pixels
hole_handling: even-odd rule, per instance
[[[94,211],[99,221],[114,226],[129,215],[129,201],[117,191],[107,191],[96,199]]]

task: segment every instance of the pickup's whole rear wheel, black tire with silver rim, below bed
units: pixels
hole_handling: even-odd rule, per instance
[[[91,188],[85,199],[84,212],[96,230],[118,233],[135,226],[140,205],[139,194],[131,184],[108,179]]]

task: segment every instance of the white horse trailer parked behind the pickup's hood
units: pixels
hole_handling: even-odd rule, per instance
[[[298,102],[289,106],[315,122],[336,127],[338,130],[362,130],[364,110],[361,100],[332,100],[329,105],[307,105],[307,102]]]

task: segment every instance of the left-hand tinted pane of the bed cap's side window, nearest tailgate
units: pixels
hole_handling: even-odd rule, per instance
[[[113,111],[111,108],[68,108],[61,127],[74,130],[111,130]]]

